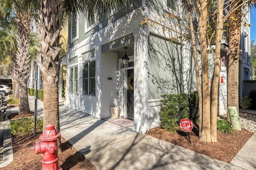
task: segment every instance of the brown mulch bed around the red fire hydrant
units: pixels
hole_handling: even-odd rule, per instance
[[[1,170],[40,170],[42,169],[42,156],[31,150],[35,143],[39,141],[38,134],[36,136],[28,136],[18,138],[12,136],[13,156],[14,160],[7,166],[0,168]],[[90,163],[84,155],[78,152],[72,145],[63,137],[62,153],[59,153],[59,166],[63,170],[96,170],[95,166]]]

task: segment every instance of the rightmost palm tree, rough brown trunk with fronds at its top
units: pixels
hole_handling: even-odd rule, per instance
[[[228,51],[228,106],[236,106],[239,109],[239,53],[241,39],[242,16],[248,13],[247,7],[254,8],[255,0],[230,1],[229,24],[229,51]],[[244,8],[245,7],[245,8]],[[248,14],[247,14],[248,15]]]

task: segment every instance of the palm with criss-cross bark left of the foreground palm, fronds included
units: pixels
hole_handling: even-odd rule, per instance
[[[19,82],[19,114],[30,113],[28,105],[27,82],[30,74],[30,32],[32,18],[32,4],[26,4],[25,0],[0,0],[1,18],[6,21],[14,21],[16,24],[16,77]]]

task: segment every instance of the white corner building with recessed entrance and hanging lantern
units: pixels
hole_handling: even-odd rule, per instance
[[[120,14],[89,22],[78,17],[69,27],[66,61],[66,106],[97,118],[111,117],[111,107],[120,106],[120,116],[134,121],[132,130],[145,133],[159,125],[161,95],[196,90],[192,45],[169,39],[186,33],[188,25],[176,0],[132,0]],[[146,17],[158,20],[166,12],[174,15],[170,31],[139,23]],[[158,29],[159,28],[159,29]],[[250,41],[249,41],[250,42]],[[125,49],[126,48],[126,49]],[[200,48],[198,48],[198,53]],[[226,53],[221,48],[219,114],[226,109]],[[129,62],[123,64],[127,55]],[[209,55],[210,77],[213,70]],[[209,82],[210,85],[210,82]]]

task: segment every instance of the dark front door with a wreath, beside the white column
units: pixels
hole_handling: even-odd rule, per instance
[[[129,69],[127,70],[127,118],[132,119],[134,117],[134,70]]]

